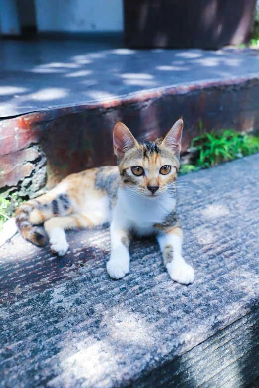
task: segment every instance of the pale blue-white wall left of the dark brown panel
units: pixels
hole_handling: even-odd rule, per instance
[[[35,0],[38,31],[123,30],[123,0]]]

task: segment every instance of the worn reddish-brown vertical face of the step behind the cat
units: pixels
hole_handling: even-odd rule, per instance
[[[112,132],[118,120],[125,122],[137,139],[154,140],[183,115],[183,151],[199,135],[201,119],[208,131],[258,129],[258,95],[259,73],[255,73],[165,86],[105,102],[71,104],[2,120],[0,188],[12,186],[17,180],[19,186],[28,176],[30,165],[23,168],[23,176],[18,167],[27,160],[27,148],[35,144],[47,158],[48,187],[73,172],[114,165]],[[9,171],[14,160],[15,166]],[[35,179],[39,177],[35,175]],[[42,185],[45,176],[41,174],[40,179]],[[30,196],[35,196],[33,190],[27,190]]]

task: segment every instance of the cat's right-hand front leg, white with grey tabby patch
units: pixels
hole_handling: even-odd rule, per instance
[[[171,279],[182,284],[194,281],[194,269],[182,257],[182,229],[175,227],[157,237],[163,254],[164,265]]]

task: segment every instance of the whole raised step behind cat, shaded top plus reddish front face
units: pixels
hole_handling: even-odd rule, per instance
[[[0,188],[35,196],[114,164],[122,120],[140,140],[183,115],[183,151],[212,128],[259,128],[257,50],[129,50],[119,41],[0,41]]]

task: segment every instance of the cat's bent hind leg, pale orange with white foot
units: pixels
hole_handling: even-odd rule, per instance
[[[63,256],[69,248],[65,237],[66,229],[93,227],[104,222],[106,220],[100,212],[82,212],[65,217],[53,217],[44,222],[44,227],[50,238],[51,250]]]

